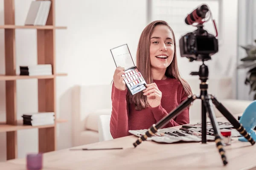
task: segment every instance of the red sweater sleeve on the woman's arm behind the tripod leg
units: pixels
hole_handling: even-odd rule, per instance
[[[187,96],[185,95],[184,91],[182,92],[180,103],[182,103]],[[155,108],[151,108],[151,111],[154,115],[154,118],[156,121],[160,121],[164,116],[168,115],[167,111],[161,106],[161,103],[159,106]],[[179,125],[185,125],[189,124],[189,107],[185,108],[181,113],[179,113],[175,120],[171,119],[163,128],[166,127],[173,127],[173,126],[179,126]]]

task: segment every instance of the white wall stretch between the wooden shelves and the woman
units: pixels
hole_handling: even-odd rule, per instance
[[[71,88],[110,84],[116,67],[110,49],[128,43],[135,59],[146,24],[146,0],[69,2],[56,4],[56,25],[68,27],[56,34],[57,71],[68,73],[57,81],[58,114],[64,119],[71,119]],[[70,134],[71,121],[60,125],[59,149],[71,146]]]

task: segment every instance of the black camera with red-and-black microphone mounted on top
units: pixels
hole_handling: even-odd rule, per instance
[[[206,5],[199,6],[192,13],[188,14],[185,23],[191,25],[198,23],[197,29],[189,32],[180,38],[180,56],[187,57],[189,61],[207,61],[218,52],[218,39],[204,30],[202,21],[209,11]],[[216,28],[216,27],[215,27]]]

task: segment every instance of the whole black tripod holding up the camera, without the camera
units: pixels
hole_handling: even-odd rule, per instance
[[[192,95],[188,96],[186,100],[184,100],[180,105],[177,106],[173,111],[171,111],[168,115],[163,117],[159,122],[152,125],[148,131],[145,133],[145,135],[139,137],[136,142],[133,143],[134,147],[137,147],[142,141],[145,141],[148,137],[151,137],[154,135],[154,133],[157,132],[158,129],[165,126],[170,119],[172,119],[174,116],[178,115],[181,111],[183,111],[186,107],[188,107],[195,99],[201,99],[202,100],[202,143],[207,143],[207,136],[206,136],[206,120],[207,120],[207,113],[210,118],[210,121],[212,123],[212,128],[215,135],[215,143],[216,147],[218,148],[219,153],[221,154],[221,159],[223,161],[223,164],[227,164],[227,158],[225,156],[225,151],[223,149],[223,144],[221,142],[220,137],[220,130],[217,125],[216,116],[213,110],[213,104],[218,109],[218,111],[221,112],[221,114],[226,117],[226,119],[236,128],[236,130],[239,131],[239,133],[244,136],[252,145],[255,144],[255,141],[252,139],[252,137],[247,133],[247,131],[244,129],[244,127],[236,120],[236,118],[222,105],[218,100],[207,93],[208,89],[208,75],[209,70],[208,66],[204,64],[204,60],[202,59],[203,64],[200,65],[198,72],[191,72],[191,75],[198,75],[201,83],[200,83],[200,96]]]

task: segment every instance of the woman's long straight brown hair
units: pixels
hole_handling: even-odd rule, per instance
[[[166,23],[166,21],[163,20],[157,20],[157,21],[153,21],[150,24],[148,24],[148,26],[146,26],[144,28],[144,30],[142,31],[141,35],[140,35],[140,40],[137,46],[137,56],[136,56],[136,65],[138,70],[141,72],[141,74],[143,75],[143,78],[145,79],[145,81],[150,84],[153,83],[153,78],[151,76],[151,64],[150,64],[150,37],[154,31],[154,28],[157,25],[164,25],[164,26],[168,26],[168,28],[171,30],[172,32],[172,36],[174,39],[174,56],[173,56],[173,60],[172,63],[166,68],[166,73],[165,75],[167,77],[172,77],[175,79],[180,80],[181,84],[183,85],[183,88],[185,90],[185,94],[186,95],[192,95],[192,91],[191,88],[189,86],[189,84],[180,77],[180,73],[178,70],[178,66],[177,66],[177,57],[176,57],[176,44],[175,44],[175,35],[172,31],[172,28],[169,26],[168,23]],[[143,108],[147,108],[149,105],[147,103],[147,97],[143,95],[143,93],[137,93],[134,94],[133,96],[131,96],[131,102],[134,102],[135,104],[135,109],[136,110],[141,110]]]

